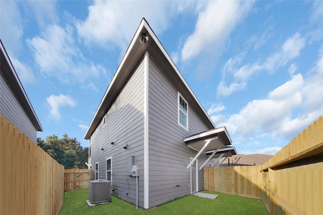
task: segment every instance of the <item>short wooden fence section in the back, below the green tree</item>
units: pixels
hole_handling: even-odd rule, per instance
[[[64,171],[64,191],[83,189],[89,187],[91,170],[70,169]]]

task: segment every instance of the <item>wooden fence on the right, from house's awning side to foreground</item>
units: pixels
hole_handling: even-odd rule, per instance
[[[323,117],[262,166],[204,168],[204,189],[261,198],[271,214],[323,214]]]

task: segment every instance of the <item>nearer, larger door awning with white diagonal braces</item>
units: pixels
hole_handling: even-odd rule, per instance
[[[206,160],[206,162],[200,167],[202,169],[204,165],[208,162],[211,157],[216,154],[216,152],[220,148],[224,148],[226,145],[231,145],[232,140],[229,136],[229,133],[226,127],[216,128],[212,130],[208,130],[199,134],[195,134],[193,136],[187,137],[184,139],[186,145],[196,151],[198,153],[196,156],[191,160],[190,164],[187,166],[189,168],[197,159],[197,157],[203,151],[214,150],[211,156]]]

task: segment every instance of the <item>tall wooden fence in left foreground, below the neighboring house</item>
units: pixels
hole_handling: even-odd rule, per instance
[[[0,115],[0,213],[58,214],[64,167]]]

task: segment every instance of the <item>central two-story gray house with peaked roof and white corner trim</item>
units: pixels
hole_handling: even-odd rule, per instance
[[[203,167],[232,141],[216,128],[145,19],[84,136],[94,179],[151,208],[203,190]],[[210,156],[206,151],[214,150]],[[138,199],[132,165],[139,167]]]

